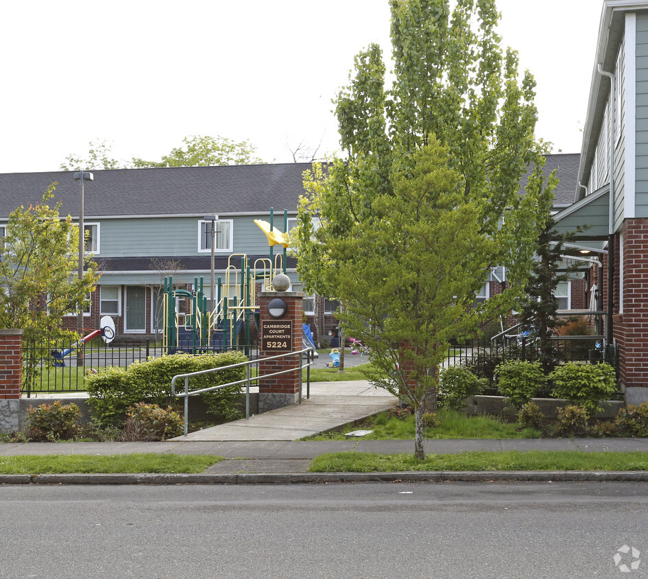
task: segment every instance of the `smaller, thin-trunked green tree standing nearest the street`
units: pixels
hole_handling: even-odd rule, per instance
[[[471,331],[477,284],[498,252],[481,212],[461,195],[448,150],[433,139],[413,168],[392,174],[391,193],[371,202],[375,219],[354,224],[331,247],[345,327],[370,347],[378,384],[416,416],[415,454],[424,457],[422,414],[436,412],[437,368],[449,340]]]

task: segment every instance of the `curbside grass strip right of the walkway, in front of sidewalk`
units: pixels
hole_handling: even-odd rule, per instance
[[[646,471],[647,452],[504,451],[429,454],[336,452],[317,456],[311,473],[398,471]]]

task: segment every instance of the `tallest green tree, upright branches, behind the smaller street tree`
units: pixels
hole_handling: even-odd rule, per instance
[[[389,4],[394,83],[385,90],[385,65],[378,46],[371,45],[355,58],[355,72],[348,86],[340,91],[335,109],[340,143],[347,158],[334,158],[326,167],[314,165],[304,178],[307,195],[300,202],[295,236],[298,272],[307,290],[341,298],[350,311],[354,310],[350,316],[357,321],[341,316],[346,324],[352,324],[353,331],[361,331],[361,309],[356,308],[361,307],[360,300],[367,301],[373,294],[343,294],[349,288],[340,272],[351,275],[354,270],[345,267],[346,260],[357,270],[365,270],[359,257],[337,252],[352,239],[357,255],[368,259],[363,252],[367,246],[371,255],[387,259],[379,245],[385,242],[383,237],[363,237],[372,228],[380,231],[387,226],[381,222],[387,217],[379,213],[374,200],[384,204],[385,198],[402,195],[396,186],[403,189],[408,180],[412,187],[424,187],[424,171],[416,165],[428,161],[418,152],[429,144],[434,150],[438,139],[446,147],[448,168],[457,174],[460,196],[453,202],[470,216],[470,222],[465,224],[465,235],[469,236],[466,241],[474,239],[479,246],[488,240],[488,250],[470,252],[466,246],[468,255],[475,255],[478,269],[466,263],[460,250],[450,248],[445,264],[427,261],[423,255],[400,262],[402,270],[394,276],[396,285],[390,289],[410,292],[405,280],[418,267],[419,260],[426,268],[440,268],[427,269],[433,279],[450,270],[464,279],[452,283],[448,279],[448,287],[456,284],[452,294],[456,307],[448,303],[443,306],[448,314],[445,319],[457,333],[468,331],[481,316],[461,314],[464,310],[459,305],[472,303],[490,267],[504,265],[509,287],[500,296],[487,300],[484,309],[510,307],[514,298],[523,294],[533,262],[533,241],[544,227],[542,215],[536,212],[542,192],[544,145],[536,141],[533,133],[535,82],[528,72],[520,78],[516,52],[501,48],[496,34],[499,15],[493,0],[458,0],[452,11],[448,0],[390,0]],[[531,165],[534,169],[527,194],[519,196],[520,177]],[[456,231],[461,237],[461,232],[452,229],[460,215],[448,210],[438,218],[445,217],[448,231]],[[441,235],[439,239],[443,243],[450,241]],[[379,271],[384,269],[379,263],[375,265]],[[374,282],[379,284],[382,278]],[[406,316],[423,314],[390,309],[388,315],[395,316],[393,324],[405,324]],[[365,323],[371,327],[376,320],[367,316]],[[421,331],[432,331],[425,320],[420,323]],[[442,343],[445,334],[440,326],[435,331],[440,332]],[[410,343],[420,339],[414,335],[409,338]],[[400,356],[412,356],[411,349],[403,349]],[[377,352],[372,354],[376,363],[379,357]],[[427,360],[432,360],[431,355]],[[393,364],[394,359],[388,362]],[[403,379],[416,379],[417,388],[428,394],[428,405],[434,407],[435,373],[425,374],[422,368],[424,364]],[[417,453],[422,450],[418,446],[416,449]]]

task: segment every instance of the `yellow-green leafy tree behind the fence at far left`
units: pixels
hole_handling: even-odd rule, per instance
[[[34,346],[66,335],[63,316],[84,303],[97,281],[89,257],[78,279],[79,228],[69,215],[61,219],[60,203],[48,205],[55,185],[41,203],[12,211],[0,246],[0,327],[23,330],[26,385],[36,373]]]

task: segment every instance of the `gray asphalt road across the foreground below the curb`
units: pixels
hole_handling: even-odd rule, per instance
[[[648,555],[632,483],[3,486],[0,578],[588,578]],[[632,565],[632,550],[620,565]]]

